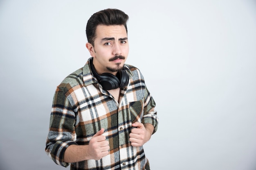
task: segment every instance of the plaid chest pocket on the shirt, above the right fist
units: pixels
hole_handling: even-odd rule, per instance
[[[130,117],[132,123],[141,122],[142,112],[143,112],[143,103],[142,100],[129,102]]]

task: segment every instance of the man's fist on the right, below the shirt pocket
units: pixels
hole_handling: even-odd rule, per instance
[[[144,124],[140,122],[135,122],[132,124],[133,127],[137,127],[133,128],[132,132],[129,135],[129,140],[132,146],[142,146],[143,144],[149,141],[153,133],[154,126],[148,123],[145,125],[146,126],[144,126]]]

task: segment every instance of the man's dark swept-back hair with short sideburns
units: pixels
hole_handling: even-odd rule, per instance
[[[87,22],[87,40],[94,46],[95,32],[98,25],[124,25],[127,33],[126,22],[129,16],[119,9],[105,9],[94,13]]]

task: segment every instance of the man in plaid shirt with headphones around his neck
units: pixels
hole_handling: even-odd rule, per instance
[[[45,151],[71,170],[149,170],[142,145],[157,131],[155,101],[128,57],[126,22],[118,9],[94,13],[85,66],[58,85]]]

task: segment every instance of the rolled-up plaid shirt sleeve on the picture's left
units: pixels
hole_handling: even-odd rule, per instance
[[[72,105],[63,90],[57,88],[52,104],[45,152],[56,164],[64,167],[69,166],[69,163],[63,161],[65,150],[68,146],[76,144],[75,118]]]

